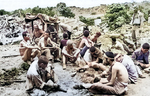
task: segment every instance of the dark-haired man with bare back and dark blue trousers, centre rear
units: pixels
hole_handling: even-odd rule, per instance
[[[89,49],[91,46],[94,45],[94,43],[88,38],[89,36],[89,31],[85,30],[83,33],[84,37],[82,38],[80,45],[79,45],[79,49],[82,48],[82,51],[80,52],[81,56],[83,57],[86,50]]]

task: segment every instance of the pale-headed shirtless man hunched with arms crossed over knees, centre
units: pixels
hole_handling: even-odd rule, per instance
[[[67,46],[63,47],[62,54],[63,54],[63,69],[66,69],[67,61],[75,63],[77,59],[79,60],[79,52],[80,50],[73,47],[73,41],[68,40]]]

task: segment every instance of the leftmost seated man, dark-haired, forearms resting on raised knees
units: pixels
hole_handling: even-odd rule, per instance
[[[40,51],[37,50],[39,49],[38,46],[30,46],[30,39],[27,37],[27,32],[22,33],[23,40],[20,42],[20,48],[19,52],[20,55],[22,56],[23,61],[32,61],[32,59],[37,55],[38,57],[40,56]],[[36,49],[34,52],[32,52],[32,49]]]

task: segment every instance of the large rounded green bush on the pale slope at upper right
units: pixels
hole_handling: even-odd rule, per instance
[[[108,6],[104,21],[108,24],[110,30],[115,30],[123,24],[130,23],[130,15],[127,13],[129,9],[126,7],[128,6],[121,4],[111,4]]]

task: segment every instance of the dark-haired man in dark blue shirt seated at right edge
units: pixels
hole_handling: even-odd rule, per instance
[[[142,48],[135,50],[132,54],[132,59],[136,65],[139,77],[141,78],[144,76],[142,75],[140,67],[144,69],[145,71],[149,71],[150,64],[148,61],[148,57],[149,57],[149,44],[148,43],[144,43],[142,45]]]

